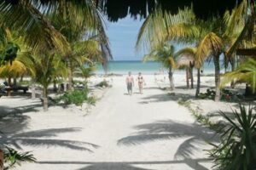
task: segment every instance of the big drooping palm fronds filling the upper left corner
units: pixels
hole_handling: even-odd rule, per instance
[[[0,24],[18,31],[25,37],[26,45],[37,54],[53,49],[65,55],[70,54],[70,38],[83,37],[86,28],[87,35],[99,35],[102,51],[108,59],[111,57],[108,37],[104,31],[102,14],[95,3],[93,0],[3,0],[0,3]],[[59,27],[53,23],[56,18],[61,24]],[[65,32],[72,32],[72,35],[69,33],[67,36]]]

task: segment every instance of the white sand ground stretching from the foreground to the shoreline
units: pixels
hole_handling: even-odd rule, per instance
[[[183,88],[185,77],[175,75],[177,89],[170,95],[160,89],[168,86],[166,76],[157,76],[157,82],[154,75],[144,77],[144,94],[137,93],[136,83],[132,96],[127,95],[124,76],[92,77],[90,82],[106,79],[112,88],[100,90],[101,99],[89,112],[75,106],[51,106],[44,112],[39,99],[2,97],[1,141],[31,151],[38,161],[16,169],[211,169],[205,151],[211,147],[206,142],[218,140],[177,104],[183,96],[194,99],[195,89]],[[214,79],[202,77],[201,82],[206,90]],[[195,102],[206,112],[231,107],[210,100]]]

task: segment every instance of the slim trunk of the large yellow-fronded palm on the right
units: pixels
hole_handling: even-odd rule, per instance
[[[213,56],[215,68],[215,101],[220,99],[220,69],[219,69],[219,55]]]

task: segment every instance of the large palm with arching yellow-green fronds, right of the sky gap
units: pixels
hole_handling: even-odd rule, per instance
[[[201,68],[206,59],[213,59],[215,100],[218,101],[220,96],[219,55],[224,51],[223,29],[220,19],[196,20],[195,14],[189,8],[179,10],[178,14],[155,12],[144,21],[137,39],[137,48],[141,48],[143,45],[146,48],[152,48],[165,41],[196,44],[195,65],[197,68]]]

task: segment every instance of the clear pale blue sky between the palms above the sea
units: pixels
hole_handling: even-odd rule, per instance
[[[137,34],[142,25],[143,20],[134,20],[130,17],[107,23],[113,60],[141,60],[143,58],[143,53],[135,51]]]

